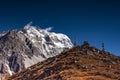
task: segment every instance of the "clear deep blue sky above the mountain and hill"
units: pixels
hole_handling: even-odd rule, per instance
[[[1,0],[0,31],[20,29],[29,22],[68,35],[120,56],[119,0]]]

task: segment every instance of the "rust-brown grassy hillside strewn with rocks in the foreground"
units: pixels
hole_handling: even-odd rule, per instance
[[[8,80],[120,80],[120,57],[84,43],[20,71]]]

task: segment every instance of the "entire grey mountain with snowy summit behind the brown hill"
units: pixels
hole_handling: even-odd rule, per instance
[[[73,46],[66,35],[49,30],[28,24],[22,30],[1,33],[0,73],[12,75]]]

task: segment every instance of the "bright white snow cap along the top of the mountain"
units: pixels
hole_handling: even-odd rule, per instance
[[[57,47],[71,48],[73,45],[70,39],[60,33],[49,32],[51,28],[39,29],[31,24],[27,24],[23,28],[25,35],[31,40],[31,42],[38,42],[36,39],[40,39],[42,43],[53,43]]]

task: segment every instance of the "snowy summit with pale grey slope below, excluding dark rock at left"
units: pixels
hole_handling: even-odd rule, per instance
[[[49,32],[50,28],[38,29],[31,24],[27,24],[22,31],[26,36],[26,42],[33,51],[33,59],[25,58],[25,67],[53,57],[65,49],[72,47],[70,39],[64,34]],[[37,56],[37,57],[36,57]]]

